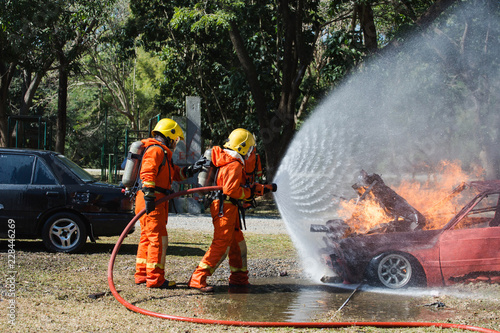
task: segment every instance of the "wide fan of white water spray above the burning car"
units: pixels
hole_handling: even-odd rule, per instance
[[[324,274],[324,243],[309,226],[336,218],[361,169],[389,186],[442,160],[498,173],[500,24],[488,3],[465,2],[365,64],[296,133],[274,179],[275,199],[315,279]]]

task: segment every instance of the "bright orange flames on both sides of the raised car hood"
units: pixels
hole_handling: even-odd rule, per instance
[[[475,168],[467,174],[459,162],[442,161],[427,181],[415,179],[403,180],[393,190],[403,197],[412,207],[422,213],[426,219],[424,229],[437,229],[446,224],[460,208],[463,202],[458,202],[458,196],[464,189],[464,183],[478,179],[483,171]],[[370,192],[364,194],[368,187],[357,189],[357,199],[343,201],[337,211],[349,227],[359,233],[367,232],[384,223],[394,220],[379,200]],[[365,196],[363,198],[363,196]]]

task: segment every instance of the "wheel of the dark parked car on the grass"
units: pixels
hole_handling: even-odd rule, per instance
[[[87,228],[78,215],[57,213],[45,221],[42,240],[49,251],[75,253],[85,246]]]

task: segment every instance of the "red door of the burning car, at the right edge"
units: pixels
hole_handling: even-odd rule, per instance
[[[481,198],[440,237],[440,263],[445,284],[469,273],[500,270],[500,227],[495,225],[498,194]]]

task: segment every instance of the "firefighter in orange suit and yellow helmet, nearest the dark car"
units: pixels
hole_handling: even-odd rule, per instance
[[[142,191],[137,193],[135,213],[146,208],[140,219],[141,238],[137,249],[135,283],[149,288],[175,288],[174,281],[165,280],[165,254],[168,246],[168,201],[155,201],[171,193],[172,181],[191,177],[194,166],[180,168],[172,163],[177,143],[184,140],[182,129],[172,119],[161,119],[144,139],[144,155],[140,170]]]

